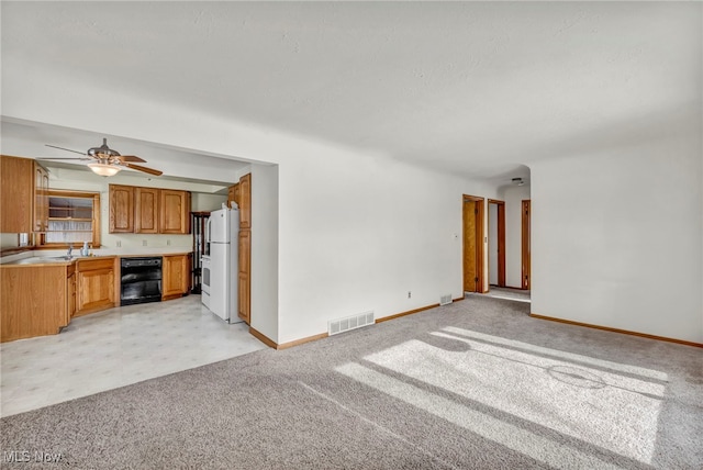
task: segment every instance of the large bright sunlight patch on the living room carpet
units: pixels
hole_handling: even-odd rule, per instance
[[[461,331],[461,336],[443,332],[434,332],[433,335],[460,342],[468,347],[465,350],[447,350],[414,339],[364,359],[592,446],[640,462],[651,462],[658,415],[666,391],[662,383],[632,377],[633,371],[625,365],[618,366],[628,369],[628,374],[617,373],[617,367],[609,361],[526,344],[520,344],[522,350],[516,350],[500,344],[510,342],[507,339],[475,332]],[[467,337],[470,335],[480,335],[482,340],[470,339]],[[528,347],[539,354],[527,351]],[[560,356],[568,357],[559,359]],[[585,366],[589,361],[598,362],[601,368]],[[602,362],[609,362],[610,371],[602,370]],[[345,366],[339,371],[346,374],[360,372],[358,367],[361,366]],[[641,371],[641,368],[637,369]],[[660,377],[657,371],[648,371],[648,374]],[[377,379],[382,378],[386,382],[391,380],[378,377],[377,372],[365,371],[361,377],[371,381],[368,383],[371,387],[376,387]],[[359,377],[355,378],[360,380]],[[393,387],[398,389],[400,385]],[[386,391],[383,388],[379,390]],[[413,391],[414,395],[419,393],[432,395],[420,390]],[[404,400],[406,394],[402,395]],[[432,396],[427,400],[434,402],[436,399]],[[424,400],[415,398],[412,403],[427,410]],[[471,415],[478,413],[458,403],[450,403],[455,409],[453,413],[456,413],[456,409]],[[512,426],[506,423],[502,425]],[[471,429],[475,430],[473,426]],[[515,444],[510,440],[515,432],[501,432],[490,438],[514,448]]]

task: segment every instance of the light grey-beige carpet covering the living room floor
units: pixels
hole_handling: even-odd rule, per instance
[[[703,467],[701,349],[528,306],[469,296],[10,416],[0,443],[81,469]]]

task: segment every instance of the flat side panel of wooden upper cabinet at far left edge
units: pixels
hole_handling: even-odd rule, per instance
[[[30,233],[34,228],[34,160],[0,157],[0,233]]]

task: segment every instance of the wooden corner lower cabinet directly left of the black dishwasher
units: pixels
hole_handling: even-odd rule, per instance
[[[115,258],[80,259],[76,262],[77,305],[75,316],[116,306]]]

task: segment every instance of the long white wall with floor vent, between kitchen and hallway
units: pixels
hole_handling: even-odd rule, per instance
[[[478,182],[366,155],[281,164],[279,339],[462,296],[465,192],[494,197]]]

